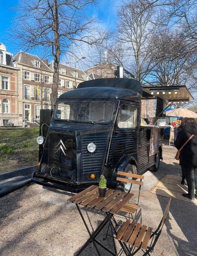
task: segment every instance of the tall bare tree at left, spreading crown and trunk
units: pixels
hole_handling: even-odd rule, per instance
[[[53,56],[53,86],[51,107],[57,98],[59,62],[61,53],[77,56],[74,46],[80,42],[92,45],[98,42],[95,19],[86,14],[86,7],[96,0],[21,0],[12,40],[26,51],[40,47]]]

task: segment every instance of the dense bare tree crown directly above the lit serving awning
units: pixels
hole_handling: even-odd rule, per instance
[[[182,34],[164,29],[154,36],[152,44],[155,49],[152,52],[150,83],[156,86],[184,85],[188,55],[181,54],[187,47]]]

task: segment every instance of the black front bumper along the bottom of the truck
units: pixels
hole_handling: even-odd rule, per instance
[[[72,193],[79,193],[80,191],[86,189],[90,185],[96,184],[96,183],[85,183],[85,184],[69,183],[58,178],[52,178],[49,175],[46,175],[38,171],[35,171],[32,173],[32,182],[46,186],[46,187],[61,189],[61,190],[72,192]]]

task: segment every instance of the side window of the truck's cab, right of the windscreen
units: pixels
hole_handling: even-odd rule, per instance
[[[133,105],[122,104],[117,118],[119,128],[136,128],[137,108]]]

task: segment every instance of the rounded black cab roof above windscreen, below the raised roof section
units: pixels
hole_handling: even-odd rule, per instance
[[[64,92],[59,99],[123,99],[127,101],[140,101],[140,94],[134,90],[88,87]]]

